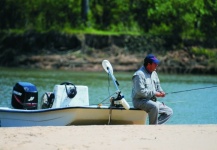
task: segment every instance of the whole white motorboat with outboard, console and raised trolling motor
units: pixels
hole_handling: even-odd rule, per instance
[[[34,84],[18,82],[12,92],[12,107],[0,107],[0,127],[146,124],[147,113],[130,107],[124,99],[110,62],[104,60],[102,66],[117,89],[109,106],[89,105],[88,87],[71,82],[45,92],[39,105]]]

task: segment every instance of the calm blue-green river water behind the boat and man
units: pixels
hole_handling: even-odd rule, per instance
[[[130,105],[132,104],[130,102],[132,74],[114,72],[120,83],[119,88]],[[170,106],[174,111],[173,117],[167,124],[217,124],[217,87],[171,93],[217,86],[217,76],[159,74],[159,77],[164,91],[169,94],[158,100]],[[71,81],[75,85],[87,85],[90,104],[99,104],[114,94],[116,90],[112,80],[108,80],[108,75],[105,72],[0,68],[0,107],[10,107],[11,92],[18,81],[33,83],[38,89],[39,101],[44,92],[53,91],[54,85],[64,81]],[[109,105],[109,101],[105,100],[103,104]]]

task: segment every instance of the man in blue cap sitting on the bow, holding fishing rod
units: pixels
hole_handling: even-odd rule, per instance
[[[133,105],[148,113],[149,124],[152,125],[165,123],[173,114],[171,108],[157,101],[157,97],[165,96],[155,71],[159,62],[154,55],[147,55],[144,65],[134,73],[132,78]]]

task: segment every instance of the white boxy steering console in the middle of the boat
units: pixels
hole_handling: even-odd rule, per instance
[[[67,85],[67,88],[74,88]],[[65,85],[55,85],[54,87],[54,103],[52,108],[70,107],[70,106],[89,106],[88,87],[84,85],[76,85],[77,94],[74,98],[67,96]]]

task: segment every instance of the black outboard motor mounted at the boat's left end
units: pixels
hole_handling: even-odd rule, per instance
[[[16,109],[37,109],[38,91],[29,82],[18,82],[12,91],[11,105]]]

